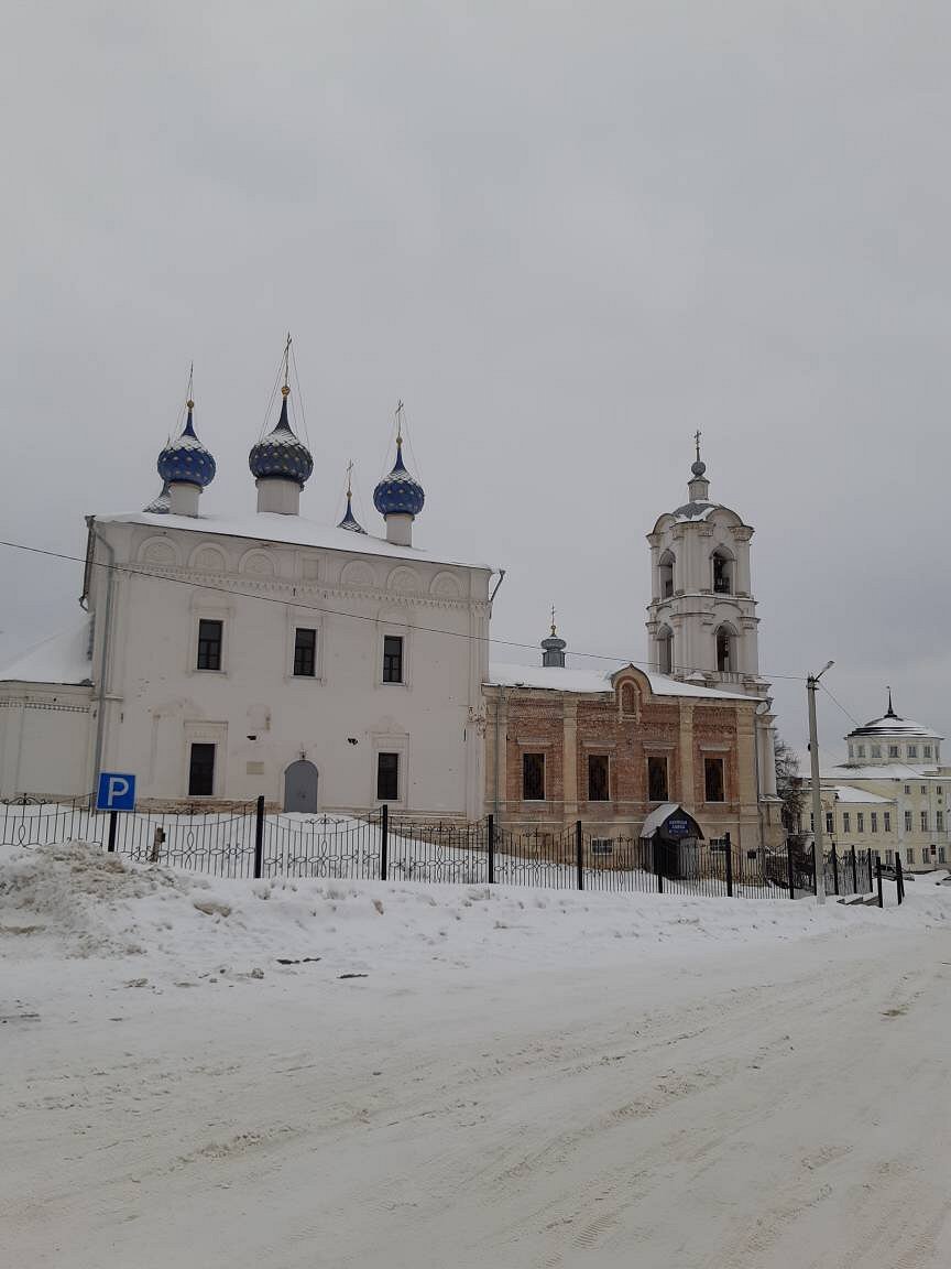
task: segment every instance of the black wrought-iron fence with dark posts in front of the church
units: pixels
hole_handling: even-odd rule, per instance
[[[662,843],[593,834],[578,821],[564,831],[418,822],[385,806],[360,815],[268,815],[264,798],[228,811],[98,812],[93,797],[44,803],[0,802],[0,841],[23,846],[89,841],[138,863],[216,877],[313,877],[503,883],[553,890],[796,898],[815,892],[812,853],[741,849],[729,834],[709,841]],[[825,857],[832,896],[870,895],[880,867],[874,851]],[[899,886],[899,895],[902,887]]]

